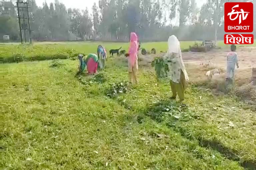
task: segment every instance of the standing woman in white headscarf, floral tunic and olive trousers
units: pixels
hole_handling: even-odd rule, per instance
[[[186,81],[189,81],[187,71],[182,59],[180,42],[176,36],[172,35],[168,39],[168,52],[163,56],[168,64],[168,79],[171,83],[172,99],[176,99],[178,94],[180,102],[184,100]]]

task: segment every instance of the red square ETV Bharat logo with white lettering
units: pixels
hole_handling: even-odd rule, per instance
[[[225,32],[253,32],[253,3],[226,2],[224,13]]]

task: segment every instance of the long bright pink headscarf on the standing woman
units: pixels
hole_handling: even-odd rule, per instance
[[[134,61],[138,52],[138,37],[135,33],[131,33],[130,35],[130,47],[129,47],[129,60],[130,64],[134,66]]]

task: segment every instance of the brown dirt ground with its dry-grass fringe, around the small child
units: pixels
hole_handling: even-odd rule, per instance
[[[240,47],[237,49],[239,68],[235,70],[235,86],[227,87],[226,77],[226,55],[229,49],[213,49],[208,52],[182,52],[186,70],[189,75],[190,83],[198,86],[205,86],[214,89],[216,92],[232,92],[242,100],[250,101],[255,105],[256,90],[255,86],[249,85],[252,82],[252,68],[256,67],[256,47]],[[139,58],[139,68],[150,69],[151,62],[155,57],[164,55],[158,54],[142,55]],[[219,69],[219,75],[211,79],[205,74],[212,69]]]

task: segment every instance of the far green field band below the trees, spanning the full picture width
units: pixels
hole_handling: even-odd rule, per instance
[[[2,58],[2,62],[33,61],[54,58],[66,59],[77,56],[79,53],[96,53],[99,44],[105,46],[107,51],[120,47],[128,50],[129,45],[129,43],[120,42],[35,42],[33,45],[0,43],[0,59]],[[189,45],[193,44],[194,42],[192,41],[181,42],[181,48],[187,49]],[[223,42],[218,42],[218,45],[224,48],[228,47],[228,45],[225,45]],[[255,46],[255,44],[253,45]],[[146,50],[155,48],[157,52],[166,51],[167,42],[146,42],[142,43],[142,47]]]

